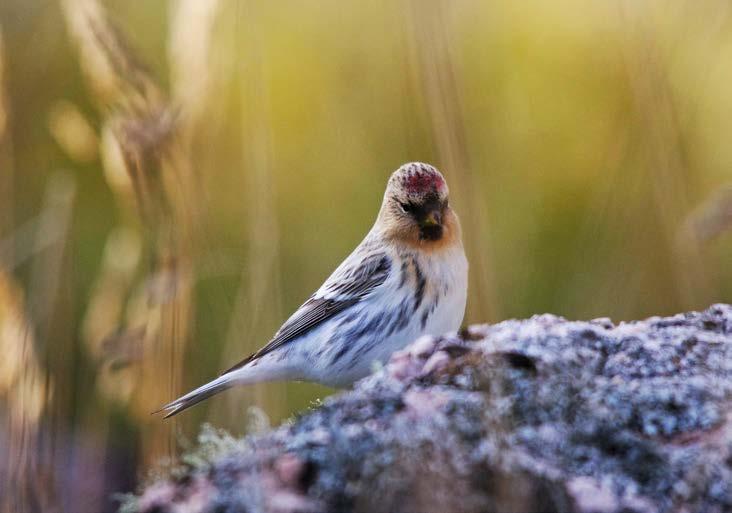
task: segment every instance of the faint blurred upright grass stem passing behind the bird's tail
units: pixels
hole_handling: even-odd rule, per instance
[[[240,81],[242,91],[241,117],[244,122],[242,168],[249,170],[246,202],[250,211],[245,224],[250,241],[246,261],[236,294],[233,314],[222,352],[222,368],[242,357],[243,350],[254,351],[262,341],[244,340],[242,334],[261,332],[262,326],[273,327],[282,321],[282,289],[280,281],[280,234],[277,224],[276,198],[273,183],[272,124],[267,106],[269,98],[265,84],[265,66],[261,48],[261,34],[257,29],[258,11],[248,6],[246,12],[237,13],[244,18],[243,30],[237,20],[236,27],[245,34],[247,54],[237,56],[232,64],[233,73]],[[238,33],[238,30],[237,30]],[[241,44],[240,42],[238,44]],[[246,69],[245,69],[246,68]],[[265,328],[266,330],[266,328]],[[250,344],[244,349],[242,342]],[[286,403],[281,385],[256,384],[247,387],[247,394],[256,398],[256,404],[265,408],[271,416],[284,413]],[[241,418],[241,396],[234,393],[214,406],[217,417],[225,422]]]

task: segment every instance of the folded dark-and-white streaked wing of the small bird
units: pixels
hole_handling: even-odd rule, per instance
[[[228,374],[307,333],[336,314],[350,308],[384,283],[391,259],[383,252],[362,256],[358,251],[341,264],[323,286],[310,297],[262,349],[224,372]]]

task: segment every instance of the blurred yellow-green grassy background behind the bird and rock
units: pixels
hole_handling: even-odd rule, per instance
[[[263,345],[404,162],[450,183],[466,322],[729,301],[731,83],[724,0],[3,0],[3,511],[113,511],[203,421],[332,393],[150,416]]]

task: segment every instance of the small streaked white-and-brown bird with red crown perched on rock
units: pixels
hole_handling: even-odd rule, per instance
[[[235,385],[257,382],[348,387],[421,335],[458,330],[468,261],[448,195],[435,167],[399,167],[366,237],[274,337],[156,413],[168,418]]]

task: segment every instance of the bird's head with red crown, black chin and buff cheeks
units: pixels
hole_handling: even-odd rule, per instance
[[[442,174],[421,162],[404,164],[389,178],[378,222],[385,235],[422,247],[460,238]]]

